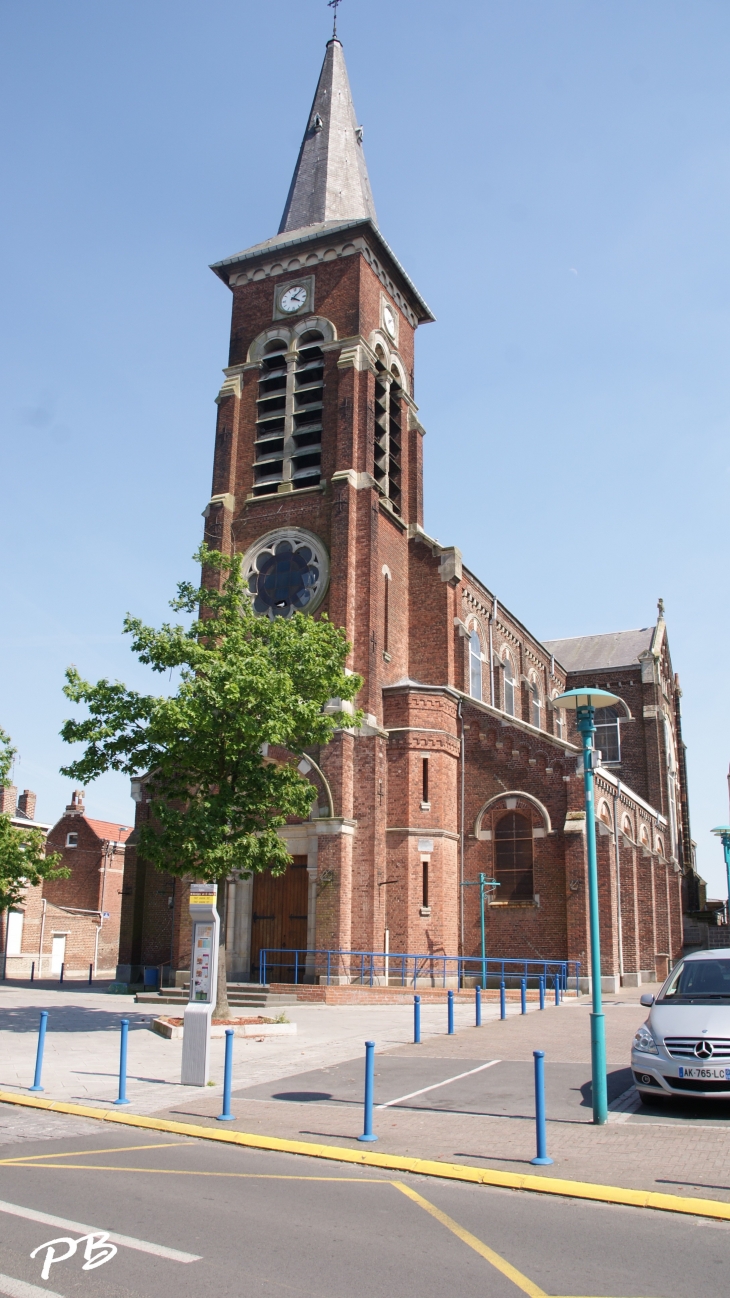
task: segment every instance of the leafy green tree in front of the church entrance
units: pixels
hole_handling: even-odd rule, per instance
[[[346,675],[351,646],[326,617],[257,617],[240,556],[204,545],[194,557],[209,584],[182,582],[170,601],[174,611],[194,614],[188,628],[155,630],[129,615],[123,624],[142,663],[156,672],[179,670],[177,692],[140,694],[108,680],[92,685],[69,667],[64,693],[88,715],[61,729],[68,744],[86,745],[62,774],[83,784],[104,771],[144,776],[151,818],[139,835],[140,854],[178,877],[218,883],[216,1012],[227,1016],[223,881],[287,868],[291,857],[277,829],[288,816],[307,818],[314,797],[297,758],[327,744],[338,727],[360,723],[357,713],[323,707],[333,698],[351,702],[362,681]],[[294,761],[269,761],[266,745]]]

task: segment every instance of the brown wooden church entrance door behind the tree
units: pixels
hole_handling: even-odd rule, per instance
[[[307,950],[308,892],[307,857],[294,857],[286,875],[274,877],[265,871],[253,876],[251,974],[255,979],[258,977],[260,953],[277,950],[282,954],[266,957],[266,981],[294,983],[294,951]],[[300,957],[299,981],[303,980],[304,959]]]

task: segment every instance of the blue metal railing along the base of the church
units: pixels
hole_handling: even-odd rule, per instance
[[[294,976],[282,977],[283,974]],[[544,979],[546,986],[556,993],[568,990],[569,983],[579,992],[579,961],[523,961],[499,959],[481,955],[434,955],[403,954],[399,951],[327,951],[290,950],[268,948],[258,953],[258,981],[265,986],[269,980],[283,983],[331,983],[333,979],[360,986],[400,985],[417,986],[418,980],[435,986],[466,986],[466,979],[481,979],[485,984],[492,979],[494,986],[520,986],[522,979],[539,986]]]

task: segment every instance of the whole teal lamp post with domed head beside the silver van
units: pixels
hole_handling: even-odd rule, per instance
[[[583,790],[586,800],[586,850],[588,857],[588,919],[591,929],[591,1089],[594,1096],[594,1123],[608,1121],[608,1085],[605,1079],[605,1023],[603,1016],[599,923],[599,874],[596,863],[596,820],[594,810],[594,770],[596,752],[596,707],[618,704],[616,694],[607,689],[568,689],[553,698],[553,707],[566,707],[575,713],[578,731],[583,739]]]

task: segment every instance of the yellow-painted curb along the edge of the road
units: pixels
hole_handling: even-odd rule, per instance
[[[381,1167],[391,1172],[413,1172],[417,1176],[438,1176],[448,1181],[468,1181],[473,1185],[494,1185],[508,1190],[530,1190],[536,1194],[559,1194],[572,1199],[591,1199],[595,1203],[622,1203],[635,1208],[659,1208],[687,1216],[713,1218],[730,1221],[730,1203],[721,1199],[683,1198],[655,1190],[626,1190],[617,1185],[594,1185],[591,1181],[564,1181],[553,1176],[521,1176],[491,1168],[469,1167],[464,1163],[438,1163],[425,1158],[399,1158],[395,1154],[374,1154],[338,1145],[313,1145],[308,1141],[279,1140],[277,1136],[252,1136],[248,1132],[216,1131],[195,1127],[192,1123],[174,1123],[164,1118],[144,1118],[142,1114],[120,1114],[110,1108],[91,1108],[87,1105],[68,1105],[57,1099],[36,1099],[0,1090],[0,1103],[22,1105],[25,1108],[43,1108],[75,1118],[94,1118],[96,1121],[117,1123],[121,1127],[139,1127],[144,1131],[170,1132],[213,1140],[223,1145],[242,1145],[247,1149],[269,1149],[279,1154],[303,1154],[325,1158],[334,1163],[356,1163],[360,1167]],[[13,1159],[4,1160],[5,1164]]]

